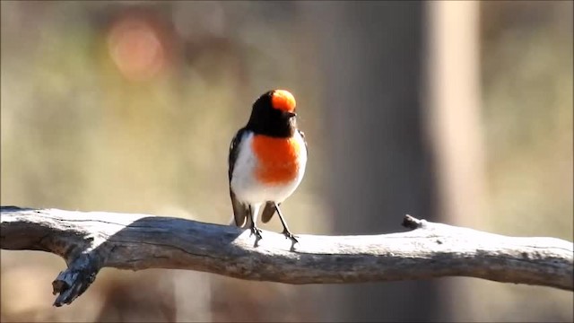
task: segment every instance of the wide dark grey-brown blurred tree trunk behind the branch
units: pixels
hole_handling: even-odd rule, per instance
[[[424,4],[335,2],[307,4],[305,12],[320,53],[335,233],[400,231],[404,214],[438,220],[420,98]],[[439,314],[445,312],[437,287],[326,286],[321,319],[448,319]]]

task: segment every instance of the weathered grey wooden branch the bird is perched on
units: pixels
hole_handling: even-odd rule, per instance
[[[1,207],[2,249],[43,250],[68,266],[53,283],[69,304],[100,268],[178,268],[285,284],[333,284],[471,276],[574,290],[573,244],[517,238],[417,220],[412,231],[361,236],[250,231],[148,214]]]

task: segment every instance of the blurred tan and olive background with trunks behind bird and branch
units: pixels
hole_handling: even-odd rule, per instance
[[[2,1],[2,205],[228,223],[227,154],[294,93],[300,234],[404,214],[572,240],[572,2]],[[280,223],[264,230],[279,231]],[[51,307],[62,259],[1,253],[2,321],[572,321],[572,292],[464,277],[348,285],[105,268]]]

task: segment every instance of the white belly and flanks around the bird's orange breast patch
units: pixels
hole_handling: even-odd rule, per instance
[[[295,178],[287,182],[265,186],[261,185],[254,175],[258,165],[251,148],[253,134],[248,134],[241,140],[239,156],[235,163],[230,183],[239,201],[250,205],[258,205],[267,201],[281,203],[291,196],[299,186],[301,179],[303,179],[307,163],[307,150],[305,149],[303,138],[299,132],[296,132],[295,136],[296,140],[300,140],[302,147],[299,154],[299,168]]]

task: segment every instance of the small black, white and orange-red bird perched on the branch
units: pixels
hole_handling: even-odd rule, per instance
[[[256,241],[262,239],[257,214],[268,223],[275,213],[283,224],[283,235],[294,236],[279,206],[299,187],[305,174],[308,145],[297,127],[296,101],[287,90],[262,94],[251,109],[245,127],[230,143],[229,184],[233,217],[238,227],[249,221]]]

